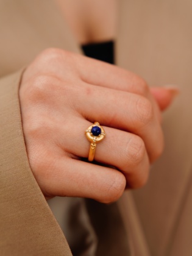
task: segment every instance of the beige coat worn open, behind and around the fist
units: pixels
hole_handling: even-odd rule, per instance
[[[108,212],[110,216],[108,209],[111,209],[118,221],[113,223],[112,219],[111,235],[101,241],[97,255],[190,256],[192,1],[121,0],[119,4],[118,65],[140,74],[150,85],[177,84],[181,94],[165,113],[166,148],[152,166],[148,185],[124,193],[111,207],[101,206],[102,213]],[[48,47],[80,52],[54,1],[0,0],[0,255],[3,256],[71,255],[65,236],[30,171],[18,100],[20,69]],[[68,200],[69,205],[78,201],[62,200],[63,205]],[[94,202],[84,204],[91,215]],[[53,205],[51,202],[52,208]],[[89,219],[84,222],[91,229]],[[96,226],[99,227],[99,222]]]

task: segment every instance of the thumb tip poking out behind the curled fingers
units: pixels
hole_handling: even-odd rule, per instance
[[[150,90],[152,96],[154,96],[157,101],[160,110],[168,108],[172,100],[180,93],[179,88],[171,85],[167,85],[165,87],[152,87]]]

